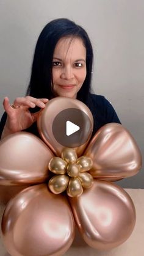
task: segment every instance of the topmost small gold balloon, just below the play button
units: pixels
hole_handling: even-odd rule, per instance
[[[76,151],[73,148],[63,148],[62,159],[67,161],[67,163],[76,163],[77,155]]]

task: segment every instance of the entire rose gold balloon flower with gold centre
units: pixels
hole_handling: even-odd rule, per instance
[[[67,135],[67,120],[80,127]],[[2,238],[12,256],[63,255],[75,223],[91,247],[107,250],[126,241],[135,225],[131,197],[113,181],[137,174],[142,156],[118,123],[92,137],[84,103],[49,100],[37,122],[40,138],[21,131],[0,142],[0,185],[24,186],[5,207]],[[91,139],[91,141],[90,141]]]

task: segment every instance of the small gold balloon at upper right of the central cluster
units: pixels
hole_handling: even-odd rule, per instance
[[[81,156],[77,159],[77,164],[81,166],[81,172],[87,172],[93,166],[93,161],[88,156]]]

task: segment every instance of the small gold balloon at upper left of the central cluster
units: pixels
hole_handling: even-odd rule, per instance
[[[49,161],[49,170],[54,174],[65,174],[67,169],[67,162],[64,161],[62,158],[54,156],[54,158]]]

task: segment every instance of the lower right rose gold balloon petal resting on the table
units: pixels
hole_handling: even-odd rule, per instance
[[[81,197],[68,197],[77,227],[85,242],[97,249],[110,249],[128,239],[135,225],[131,197],[107,181],[94,181]]]

